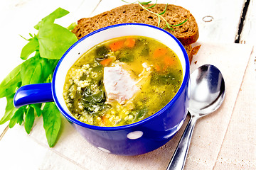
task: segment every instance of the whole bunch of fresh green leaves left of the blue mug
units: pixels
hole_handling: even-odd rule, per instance
[[[27,133],[31,132],[35,114],[43,114],[43,127],[50,147],[55,145],[60,130],[60,113],[54,103],[46,103],[43,111],[42,104],[33,104],[26,107],[14,108],[13,98],[15,91],[26,84],[50,82],[53,71],[60,57],[78,39],[70,32],[76,26],[71,24],[63,28],[54,23],[55,19],[67,15],[69,12],[63,8],[57,8],[53,13],[42,19],[34,28],[38,34],[26,39],[29,42],[21,50],[21,59],[26,60],[18,65],[0,84],[0,98],[6,97],[6,112],[0,120],[0,125],[10,120],[9,127],[13,128],[16,123],[25,123]],[[36,54],[29,58],[30,55]],[[25,113],[25,114],[24,114]],[[25,119],[25,120],[23,120]]]

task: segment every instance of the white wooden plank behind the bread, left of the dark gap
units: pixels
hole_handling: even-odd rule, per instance
[[[245,0],[160,0],[158,3],[176,4],[191,11],[198,23],[199,41],[233,43],[238,32],[240,16]],[[94,13],[92,13],[92,16],[109,11],[122,4],[125,3],[120,0],[112,0],[111,3],[110,1],[102,0]],[[211,18],[212,21],[210,21]]]

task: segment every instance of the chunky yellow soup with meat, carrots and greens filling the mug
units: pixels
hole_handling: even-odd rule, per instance
[[[78,120],[120,126],[148,118],[181,86],[176,54],[152,38],[127,36],[85,52],[68,71],[63,96]]]

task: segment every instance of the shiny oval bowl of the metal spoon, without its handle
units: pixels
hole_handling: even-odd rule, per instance
[[[216,111],[225,96],[225,82],[220,70],[213,65],[203,65],[191,74],[191,96],[188,111],[207,115]]]

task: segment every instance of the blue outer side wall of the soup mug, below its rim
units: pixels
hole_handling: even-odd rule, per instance
[[[188,83],[181,96],[163,113],[144,124],[124,130],[93,130],[72,123],[74,128],[95,147],[107,149],[111,154],[138,155],[157,149],[169,142],[181,128],[188,106]],[[139,139],[127,138],[129,132],[142,131]]]

